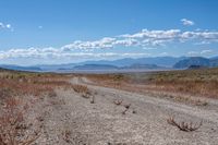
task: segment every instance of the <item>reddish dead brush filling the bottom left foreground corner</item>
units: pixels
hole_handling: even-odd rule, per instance
[[[0,116],[0,145],[31,145],[39,133],[26,133],[24,113],[28,108],[17,98],[8,98]]]

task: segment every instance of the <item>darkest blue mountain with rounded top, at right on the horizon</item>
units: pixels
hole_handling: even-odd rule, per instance
[[[190,68],[191,65],[198,65],[198,67],[210,67],[211,62],[210,59],[206,59],[203,57],[190,57],[177,62],[173,68],[175,69],[185,69]]]

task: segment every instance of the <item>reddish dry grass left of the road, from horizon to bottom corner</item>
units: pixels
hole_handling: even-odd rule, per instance
[[[68,82],[71,76],[0,70],[0,145],[33,144],[39,133],[32,129],[37,126],[27,124],[28,106],[20,98],[28,95],[57,97],[56,88],[73,88]]]

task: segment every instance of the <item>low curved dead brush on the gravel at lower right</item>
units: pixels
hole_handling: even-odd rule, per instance
[[[171,125],[177,126],[178,129],[180,129],[181,131],[184,131],[184,132],[196,131],[202,126],[202,121],[198,124],[197,123],[193,124],[192,122],[187,123],[187,122],[184,122],[184,121],[177,122],[173,117],[170,117],[167,120],[167,122]]]

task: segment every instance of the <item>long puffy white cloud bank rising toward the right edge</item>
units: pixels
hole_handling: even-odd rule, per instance
[[[181,29],[148,31],[142,29],[135,34],[124,34],[116,37],[104,37],[93,41],[75,40],[61,47],[62,50],[73,49],[105,49],[114,47],[156,47],[165,46],[173,41],[195,40],[195,43],[209,44],[218,41],[218,32],[194,31],[182,32]]]

